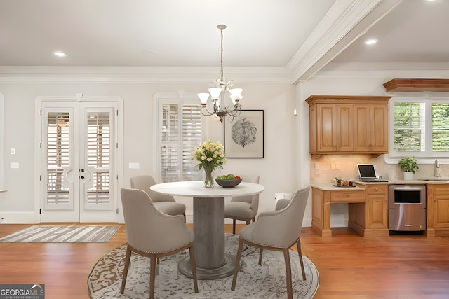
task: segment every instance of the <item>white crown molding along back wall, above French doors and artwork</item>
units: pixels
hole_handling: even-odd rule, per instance
[[[236,83],[292,83],[284,67],[228,67]],[[204,83],[216,67],[0,67],[1,83]]]

